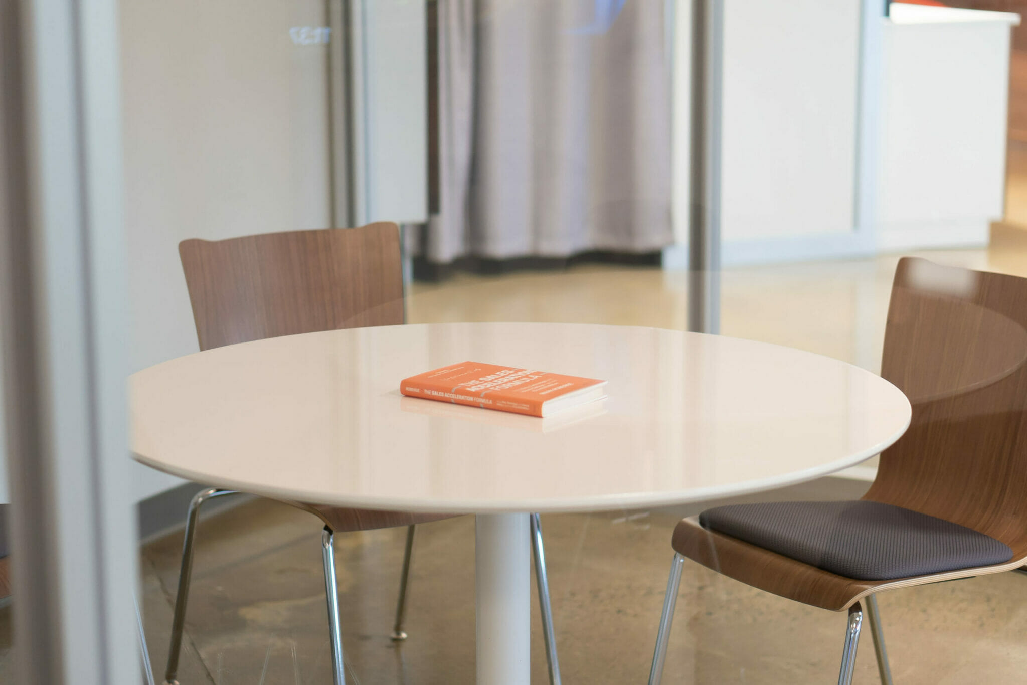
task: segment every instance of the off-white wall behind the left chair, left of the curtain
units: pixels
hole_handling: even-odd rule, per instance
[[[332,176],[332,118],[342,127],[339,110],[350,104],[337,99],[330,112],[330,78],[336,93],[343,82],[330,69],[330,49],[353,45],[330,6],[342,3],[121,3],[134,370],[197,349],[179,241],[332,225],[332,184],[340,183]],[[353,7],[362,31],[358,214],[425,221],[424,4]],[[179,483],[143,466],[136,475],[140,498]]]

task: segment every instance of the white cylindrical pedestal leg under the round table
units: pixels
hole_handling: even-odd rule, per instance
[[[529,535],[527,513],[477,517],[478,685],[531,682]]]

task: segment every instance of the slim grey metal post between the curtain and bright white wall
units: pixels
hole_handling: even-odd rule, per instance
[[[720,333],[724,0],[692,0],[688,330]]]

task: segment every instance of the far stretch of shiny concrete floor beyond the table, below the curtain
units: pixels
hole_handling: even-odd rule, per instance
[[[1027,167],[1027,150],[1024,163]],[[987,250],[909,254],[943,264],[1027,275],[1027,168],[1022,185],[1023,211],[1018,217],[1023,229],[995,224]],[[721,333],[798,347],[877,371],[899,259],[884,255],[725,269]],[[686,304],[684,272],[583,264],[414,283],[407,318],[411,324],[574,321],[684,329]]]

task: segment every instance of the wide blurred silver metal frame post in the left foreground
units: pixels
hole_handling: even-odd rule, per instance
[[[15,681],[139,683],[115,0],[0,2]]]

